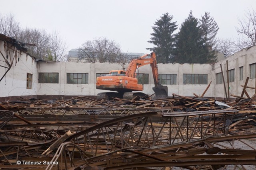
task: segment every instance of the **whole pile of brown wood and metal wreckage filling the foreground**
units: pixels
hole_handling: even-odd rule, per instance
[[[1,103],[0,168],[255,169],[256,95],[244,92],[233,102],[172,94]]]

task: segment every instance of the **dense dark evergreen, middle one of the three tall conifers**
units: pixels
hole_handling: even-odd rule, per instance
[[[177,63],[206,63],[202,31],[192,11],[180,27],[176,39],[175,59]]]

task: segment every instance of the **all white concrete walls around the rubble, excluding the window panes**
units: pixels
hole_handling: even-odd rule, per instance
[[[9,50],[11,56],[9,56]],[[12,50],[4,47],[4,42],[0,41],[0,51],[4,56],[8,55],[13,58],[14,53]],[[20,61],[18,61],[18,58]],[[193,96],[193,93],[201,96],[208,84],[212,81],[210,88],[207,90],[204,96],[222,97],[226,98],[223,84],[216,84],[216,73],[221,72],[222,69],[226,72],[226,61],[228,61],[228,69],[235,69],[235,81],[229,83],[230,95],[234,94],[240,96],[242,93],[242,87],[246,81],[246,77],[250,76],[249,64],[256,63],[256,46],[244,49],[235,53],[234,55],[227,57],[223,61],[211,64],[158,64],[159,74],[177,74],[177,80],[174,85],[168,86],[168,95],[172,96],[172,93],[182,96]],[[0,55],[0,65],[7,66],[3,57]],[[128,64],[125,64],[127,68]],[[239,67],[243,66],[244,78],[239,80]],[[12,68],[0,82],[0,97],[9,96],[33,96],[33,95],[50,95],[50,96],[96,96],[99,92],[105,92],[105,90],[96,89],[96,73],[106,73],[110,70],[122,70],[122,64],[112,63],[74,63],[74,62],[42,62],[36,63],[33,57],[27,56],[22,52],[17,56],[17,63],[15,60]],[[0,67],[0,76],[2,77],[7,68]],[[59,83],[57,84],[45,84],[38,83],[39,72],[58,72]],[[26,74],[33,74],[32,89],[26,88]],[[88,84],[67,84],[67,73],[88,73]],[[144,85],[142,92],[146,94],[153,94],[154,80],[152,76],[152,69],[150,65],[142,66],[139,68],[139,73],[149,74],[149,84]],[[187,84],[183,85],[183,74],[208,74],[208,84]],[[225,82],[228,89],[226,74]],[[255,87],[255,78],[249,79],[248,86]],[[247,88],[246,91],[250,96],[255,93],[254,89]],[[227,91],[228,92],[228,91]]]

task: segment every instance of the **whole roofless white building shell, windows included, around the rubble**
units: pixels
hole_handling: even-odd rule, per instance
[[[12,46],[8,38],[0,36],[0,77],[3,77],[0,81],[0,101],[14,100],[18,97],[59,99],[72,96],[96,96],[98,92],[104,92],[96,89],[96,76],[123,68],[122,64],[113,63],[36,61],[26,51]],[[226,61],[228,61],[230,95],[241,95],[243,89],[241,85],[244,85],[246,77],[249,77],[247,86],[256,86],[256,46],[243,49],[214,65],[158,64],[158,73],[162,84],[168,86],[169,96],[172,96],[172,93],[182,96],[194,96],[195,93],[201,96],[211,82],[204,96],[226,98],[220,68],[222,64],[228,92]],[[9,66],[8,63],[13,64]],[[126,68],[127,66],[128,64]],[[139,68],[139,77],[144,78],[143,92],[153,94],[154,80],[150,65]],[[250,97],[255,94],[253,88],[246,88],[246,91]]]

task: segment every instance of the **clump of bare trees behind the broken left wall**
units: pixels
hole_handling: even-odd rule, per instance
[[[0,14],[0,33],[26,44],[28,53],[38,59],[65,61],[67,58],[66,42],[57,31],[50,35],[44,29],[21,29],[12,14]]]

